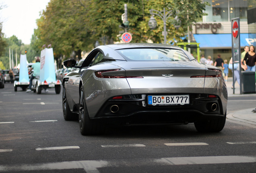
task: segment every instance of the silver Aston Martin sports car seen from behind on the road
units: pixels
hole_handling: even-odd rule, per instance
[[[64,61],[63,115],[77,117],[82,135],[105,125],[194,123],[219,132],[227,110],[221,69],[198,63],[186,50],[165,44],[110,44],[93,49],[81,66]]]

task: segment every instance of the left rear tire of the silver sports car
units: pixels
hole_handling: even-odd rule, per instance
[[[79,94],[78,121],[82,135],[99,135],[105,130],[105,124],[101,123],[101,120],[90,119],[82,87]]]

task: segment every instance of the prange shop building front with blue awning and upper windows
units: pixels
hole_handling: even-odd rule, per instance
[[[204,54],[205,57],[211,55],[213,60],[217,58],[217,54],[221,54],[223,60],[230,60],[232,56],[231,19],[238,17],[241,52],[246,45],[256,46],[255,27],[248,24],[248,0],[204,0],[204,2],[209,2],[211,5],[206,6],[204,10],[208,15],[203,16],[202,22],[192,26],[190,39],[192,42],[200,43],[200,54]]]

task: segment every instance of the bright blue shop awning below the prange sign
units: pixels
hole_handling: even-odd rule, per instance
[[[193,34],[200,48],[232,48],[231,34]],[[252,39],[252,38],[250,38]],[[240,46],[249,46],[249,34],[240,34]],[[250,41],[249,41],[250,42]]]

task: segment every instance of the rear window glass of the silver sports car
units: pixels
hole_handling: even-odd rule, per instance
[[[190,61],[188,56],[177,49],[135,48],[116,50],[127,61]]]

